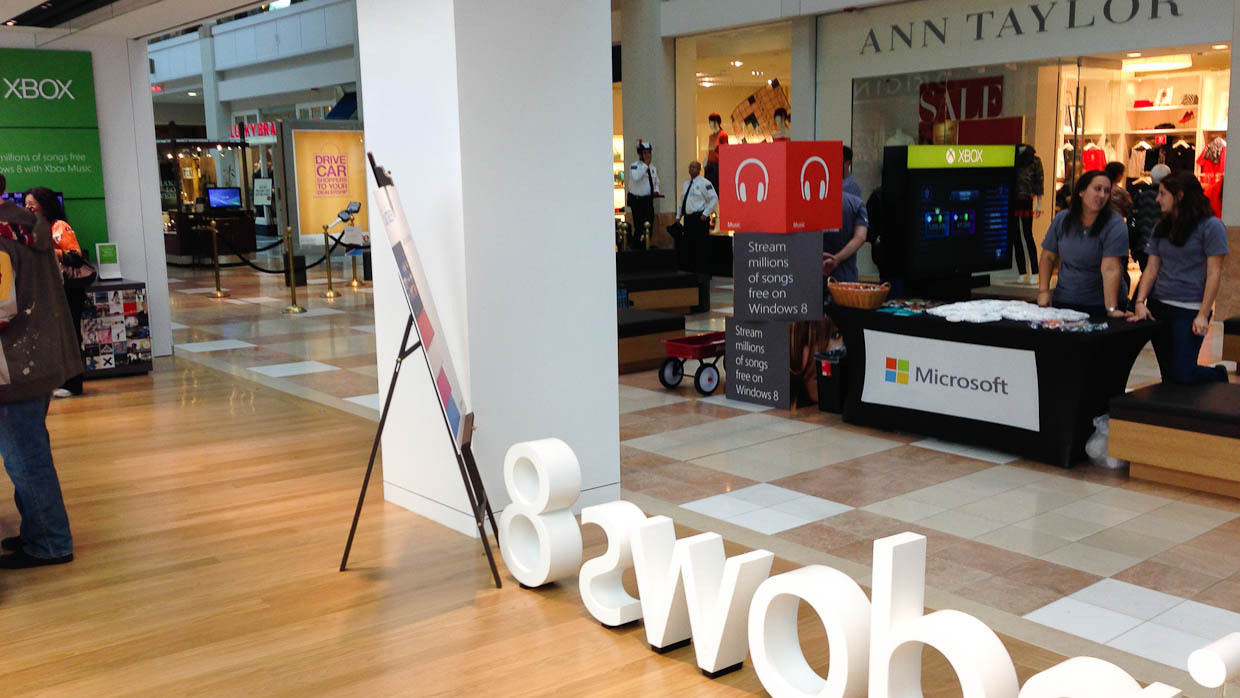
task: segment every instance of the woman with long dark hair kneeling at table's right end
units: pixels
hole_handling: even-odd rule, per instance
[[[1197,355],[1210,331],[1228,231],[1192,172],[1172,172],[1159,182],[1158,207],[1163,217],[1146,245],[1149,262],[1137,286],[1132,319],[1164,321],[1153,338],[1163,381],[1226,383],[1225,367],[1198,366]]]

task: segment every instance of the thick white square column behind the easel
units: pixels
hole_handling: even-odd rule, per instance
[[[547,436],[580,459],[579,506],[616,498],[611,151],[599,135],[611,133],[608,2],[358,0],[357,14],[366,146],[404,203],[477,415],[475,454],[496,511],[508,501],[507,448]],[[408,310],[391,253],[379,250],[386,391]],[[420,356],[401,376],[384,495],[471,533]]]

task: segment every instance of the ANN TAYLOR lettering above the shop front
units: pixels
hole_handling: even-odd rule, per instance
[[[1197,0],[1052,0],[1013,5],[1006,10],[978,10],[951,17],[928,16],[901,21],[889,26],[870,26],[861,43],[861,55],[884,51],[914,51],[931,43],[947,46],[949,36],[959,35],[952,25],[960,25],[965,40],[1002,41],[1027,33],[1047,33],[1089,29],[1100,22],[1127,25],[1130,22],[1158,22],[1184,16],[1184,9]],[[1157,27],[1148,27],[1157,31]]]

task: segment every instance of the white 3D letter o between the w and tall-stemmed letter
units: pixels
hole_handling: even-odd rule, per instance
[[[831,666],[823,679],[805,661],[797,605],[810,604],[827,630]],[[869,667],[869,599],[847,574],[812,565],[773,577],[749,607],[749,652],[774,698],[864,698]]]

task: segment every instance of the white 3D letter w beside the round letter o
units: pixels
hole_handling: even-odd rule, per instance
[[[740,665],[749,651],[749,603],[774,560],[766,550],[725,558],[718,533],[677,541],[672,519],[646,519],[632,532],[632,562],[651,648],[692,636],[703,671]]]

